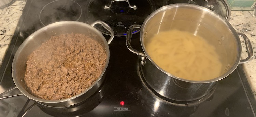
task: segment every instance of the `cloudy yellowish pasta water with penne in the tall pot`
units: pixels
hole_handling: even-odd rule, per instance
[[[202,81],[221,75],[222,63],[216,48],[190,32],[162,31],[145,47],[159,67],[176,77]]]

